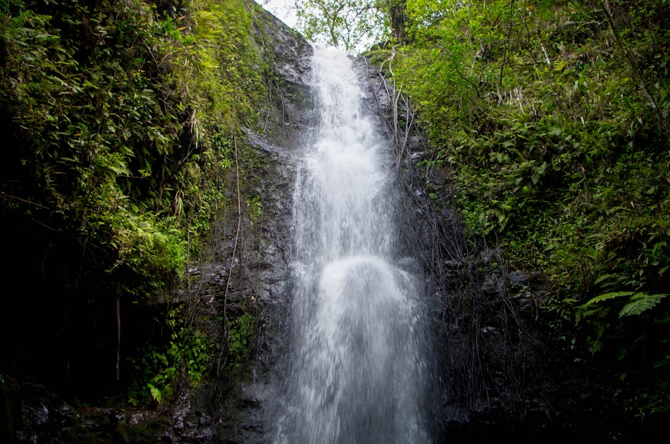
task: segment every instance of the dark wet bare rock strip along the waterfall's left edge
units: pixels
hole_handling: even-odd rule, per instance
[[[259,216],[244,214],[237,246],[237,211],[226,211],[215,236],[220,239],[215,247],[220,262],[208,265],[213,268],[209,288],[216,313],[222,314],[226,293],[229,319],[242,312],[256,315],[259,335],[246,374],[235,381],[217,381],[211,388],[211,440],[245,444],[271,442],[268,418],[277,408],[284,378],[280,361],[290,307],[287,279],[294,179],[317,117],[309,85],[311,45],[269,13],[256,16],[254,30],[271,51],[276,75],[271,80],[272,103],[266,115],[257,128],[244,131],[244,144],[257,159],[244,192],[259,196],[262,211]],[[233,250],[237,259],[231,261]]]

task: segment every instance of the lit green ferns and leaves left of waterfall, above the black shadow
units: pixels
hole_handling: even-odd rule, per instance
[[[184,266],[186,234],[206,230],[220,199],[226,139],[253,124],[264,94],[244,3],[192,6],[173,18],[139,0],[56,3],[58,20],[25,10],[0,29],[0,99],[23,145],[8,168],[39,184],[27,195],[10,181],[13,209],[61,214],[66,226],[52,228],[95,242],[107,271],[140,281]]]

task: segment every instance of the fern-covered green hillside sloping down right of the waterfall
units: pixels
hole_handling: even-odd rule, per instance
[[[407,18],[378,56],[428,132],[423,167],[470,233],[550,278],[541,319],[576,368],[631,420],[667,414],[670,4],[408,0]]]

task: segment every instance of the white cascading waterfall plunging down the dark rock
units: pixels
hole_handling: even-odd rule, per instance
[[[321,123],[294,194],[292,344],[278,443],[430,442],[425,308],[399,264],[390,144],[349,58],[315,48]]]

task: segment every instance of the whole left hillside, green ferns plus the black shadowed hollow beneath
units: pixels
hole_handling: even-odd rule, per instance
[[[153,302],[253,168],[236,137],[268,103],[254,8],[0,2],[4,374],[142,404],[210,368],[192,306]]]

